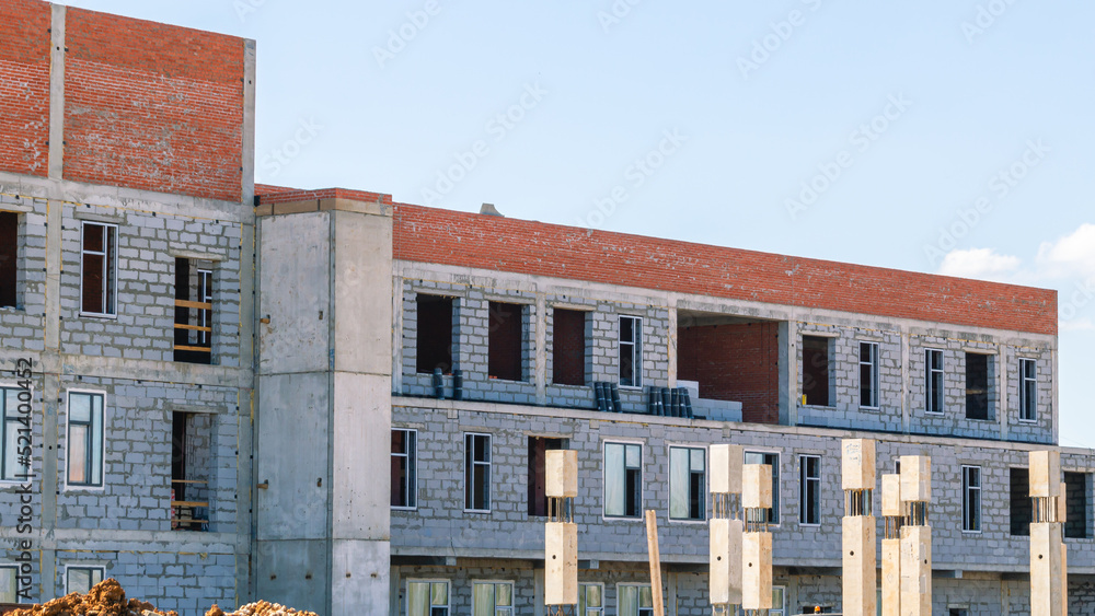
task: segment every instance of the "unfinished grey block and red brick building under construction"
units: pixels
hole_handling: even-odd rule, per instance
[[[932,460],[934,613],[1030,613],[1056,292],[256,187],[254,42],[0,23],[0,603],[116,578],[185,616],[541,614],[569,449],[578,613],[652,614],[655,510],[667,614],[708,614],[731,443],[773,468],[772,614],[840,612],[840,444],[869,438],[879,474]],[[1083,614],[1095,466],[1061,451]]]

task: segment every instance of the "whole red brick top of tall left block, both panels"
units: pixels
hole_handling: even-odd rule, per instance
[[[48,175],[50,37],[48,2],[0,1],[0,171]],[[65,179],[240,201],[246,45],[66,9]]]

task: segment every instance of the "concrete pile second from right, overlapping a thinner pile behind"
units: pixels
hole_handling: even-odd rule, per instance
[[[932,527],[927,504],[932,500],[932,460],[901,456],[901,615],[932,614]]]

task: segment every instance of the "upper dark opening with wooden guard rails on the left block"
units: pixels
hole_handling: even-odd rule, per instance
[[[212,269],[175,259],[175,361],[212,363]]]

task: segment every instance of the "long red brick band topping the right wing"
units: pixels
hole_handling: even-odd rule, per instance
[[[1057,292],[623,233],[395,206],[394,257],[1057,335]]]

